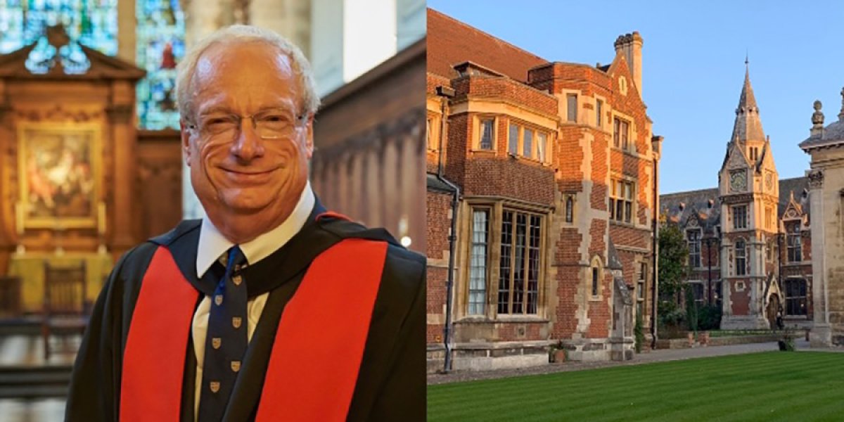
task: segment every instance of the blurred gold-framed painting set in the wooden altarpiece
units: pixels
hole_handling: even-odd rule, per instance
[[[96,227],[100,125],[24,123],[18,147],[24,228]]]

